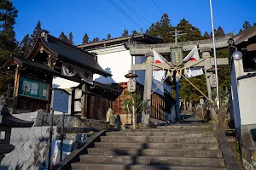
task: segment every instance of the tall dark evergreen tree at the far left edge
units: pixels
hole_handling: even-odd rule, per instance
[[[15,53],[17,47],[14,25],[18,11],[13,3],[8,0],[0,2],[0,9],[0,65],[3,65],[11,54]],[[0,72],[0,96],[6,92],[7,85],[13,82],[13,77]]]

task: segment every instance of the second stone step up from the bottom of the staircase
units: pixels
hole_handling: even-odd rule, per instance
[[[223,158],[189,158],[189,157],[158,157],[158,156],[80,156],[81,163],[105,164],[147,164],[192,167],[225,167]]]

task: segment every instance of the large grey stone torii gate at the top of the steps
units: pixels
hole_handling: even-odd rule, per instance
[[[224,37],[219,37],[216,39],[215,44],[216,48],[226,48],[229,46],[229,40],[233,37],[233,34],[228,34]],[[153,71],[159,70],[160,68],[172,69],[170,65],[172,62],[167,63],[158,63],[158,64],[150,64],[154,63],[154,49],[159,54],[170,54],[171,48],[183,48],[183,51],[190,51],[192,48],[197,45],[200,49],[200,53],[202,54],[201,60],[202,62],[198,63],[198,61],[188,61],[185,63],[185,67],[189,65],[193,66],[201,66],[204,67],[206,81],[207,81],[207,93],[208,98],[211,99],[211,84],[210,84],[210,72],[207,72],[208,69],[212,68],[214,65],[214,59],[210,58],[210,52],[212,50],[212,39],[208,40],[200,40],[200,41],[192,41],[192,42],[177,42],[177,43],[160,43],[160,44],[137,44],[137,43],[125,43],[125,48],[130,50],[131,56],[145,56],[147,58],[146,63],[131,65],[131,71],[145,71],[145,82],[144,82],[144,93],[143,99],[146,99],[148,95],[151,94],[152,89],[152,80],[153,80]],[[197,64],[198,63],[198,64]],[[218,58],[217,65],[229,65],[228,58]],[[148,108],[151,105],[151,96],[148,97]],[[179,101],[177,101],[177,107],[179,107]],[[142,114],[142,121],[144,125],[149,125],[149,116],[151,109],[144,112]],[[179,120],[179,110],[177,111],[177,119]]]

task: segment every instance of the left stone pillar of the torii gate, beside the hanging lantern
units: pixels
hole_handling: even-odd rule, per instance
[[[151,53],[145,54],[147,58],[147,62],[153,63],[154,62],[154,54],[153,51]],[[144,82],[144,93],[143,93],[143,99],[146,99],[148,95],[151,94],[152,89],[152,78],[153,78],[153,65],[146,64],[147,68],[145,71],[145,82]],[[148,105],[147,111],[143,111],[142,113],[142,123],[144,126],[149,125],[149,117],[151,113],[151,95],[147,98],[145,101]]]

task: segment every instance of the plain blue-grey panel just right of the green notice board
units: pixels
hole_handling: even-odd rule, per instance
[[[55,88],[53,91],[53,110],[68,113],[69,94],[66,90]]]

